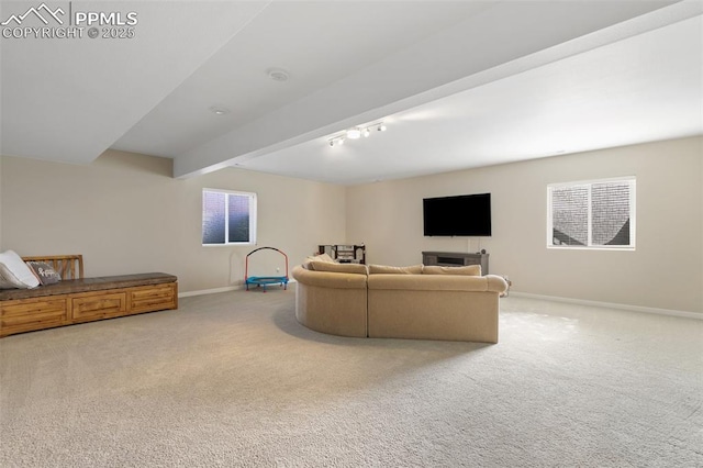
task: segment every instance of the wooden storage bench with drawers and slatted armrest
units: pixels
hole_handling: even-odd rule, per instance
[[[102,319],[178,309],[178,278],[149,272],[83,278],[82,256],[23,257],[45,261],[55,285],[0,290],[0,337]]]

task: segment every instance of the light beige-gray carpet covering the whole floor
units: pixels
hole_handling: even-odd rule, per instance
[[[293,309],[236,291],[0,339],[0,466],[703,466],[701,321],[507,298],[482,345]]]

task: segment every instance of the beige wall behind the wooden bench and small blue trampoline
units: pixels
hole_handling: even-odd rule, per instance
[[[258,246],[282,249],[291,268],[321,239],[344,239],[343,187],[234,168],[179,180],[170,159],[112,151],[87,166],[1,160],[0,248],[80,253],[87,276],[166,271],[181,292],[242,283],[256,247],[201,245],[203,188],[256,192]],[[279,275],[282,257],[268,254],[250,257],[250,274]]]

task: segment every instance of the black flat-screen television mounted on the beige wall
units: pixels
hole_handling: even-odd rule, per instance
[[[465,194],[423,199],[426,236],[491,235],[491,194]]]

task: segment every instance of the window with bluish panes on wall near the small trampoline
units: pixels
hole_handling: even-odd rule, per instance
[[[202,245],[256,244],[256,193],[203,189]]]

